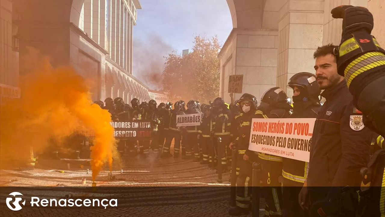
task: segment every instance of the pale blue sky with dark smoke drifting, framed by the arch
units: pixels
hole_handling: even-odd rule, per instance
[[[218,36],[223,44],[233,23],[226,0],[140,0],[133,29],[133,74],[161,89],[164,56],[193,46],[194,36]]]

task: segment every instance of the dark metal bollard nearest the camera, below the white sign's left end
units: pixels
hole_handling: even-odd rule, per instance
[[[262,166],[260,163],[253,163],[253,184],[251,187],[251,216],[259,217],[259,192]]]

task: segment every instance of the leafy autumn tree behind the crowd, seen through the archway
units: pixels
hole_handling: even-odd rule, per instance
[[[196,36],[192,52],[182,56],[173,51],[166,57],[162,73],[163,90],[172,102],[213,101],[219,95],[220,49],[217,36],[211,39]]]

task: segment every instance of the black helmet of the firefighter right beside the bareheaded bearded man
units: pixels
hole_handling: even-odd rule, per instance
[[[309,98],[318,98],[321,94],[320,87],[316,81],[316,76],[308,72],[300,72],[293,75],[289,82],[288,87],[293,88],[299,86],[306,91],[305,95]]]

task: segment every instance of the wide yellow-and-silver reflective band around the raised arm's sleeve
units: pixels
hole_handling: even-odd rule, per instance
[[[344,75],[346,78],[346,85],[349,87],[353,79],[364,71],[382,65],[385,65],[385,54],[381,52],[368,52],[359,56],[345,68]]]

